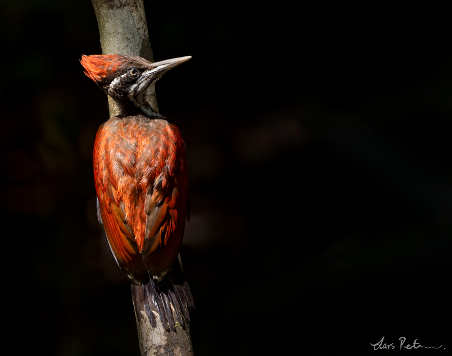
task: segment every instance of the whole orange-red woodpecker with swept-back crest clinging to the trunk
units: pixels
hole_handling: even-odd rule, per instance
[[[189,60],[151,63],[127,55],[83,55],[80,63],[122,112],[97,131],[94,181],[98,219],[111,252],[132,281],[137,317],[185,327],[193,309],[177,255],[187,216],[187,163],[179,129],[146,101],[145,91]]]

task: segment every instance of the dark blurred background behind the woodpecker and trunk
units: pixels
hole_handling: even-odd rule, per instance
[[[449,12],[259,4],[145,1],[155,60],[192,56],[157,97],[187,145],[195,354],[450,349]],[[91,3],[0,16],[3,345],[138,355],[95,212]]]

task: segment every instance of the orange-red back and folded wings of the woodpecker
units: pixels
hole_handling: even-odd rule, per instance
[[[94,175],[118,264],[136,284],[146,271],[164,276],[179,252],[187,211],[185,145],[179,130],[141,115],[111,118],[96,136]]]

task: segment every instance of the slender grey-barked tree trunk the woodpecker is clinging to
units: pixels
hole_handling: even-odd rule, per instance
[[[102,54],[139,55],[154,62],[143,0],[92,0],[92,3],[99,25]],[[154,84],[147,91],[147,100],[158,112]],[[122,111],[110,97],[108,105],[110,117]],[[137,315],[135,318],[142,355],[193,355],[189,328],[183,330],[179,327],[176,332],[166,332],[158,314],[157,327],[152,328],[144,311],[139,322]]]

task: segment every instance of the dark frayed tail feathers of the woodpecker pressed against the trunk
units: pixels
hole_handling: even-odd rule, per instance
[[[142,311],[145,311],[152,327],[155,327],[157,322],[154,311],[160,316],[166,331],[175,330],[178,324],[187,328],[190,312],[194,310],[193,297],[177,259],[171,269],[160,282],[148,274],[142,285],[132,284],[133,305],[138,322],[143,317]]]

